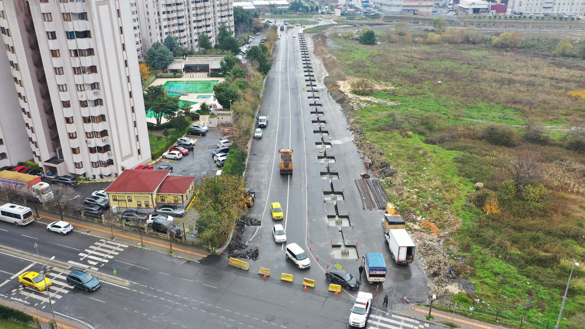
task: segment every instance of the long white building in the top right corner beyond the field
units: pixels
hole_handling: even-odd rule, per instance
[[[585,15],[583,0],[510,0],[507,14],[518,15]]]

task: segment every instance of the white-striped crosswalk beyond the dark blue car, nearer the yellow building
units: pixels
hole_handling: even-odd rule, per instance
[[[90,245],[84,252],[79,253],[81,257],[79,261],[68,261],[67,263],[80,268],[98,271],[100,267],[108,264],[109,261],[126,248],[128,248],[127,244],[100,239],[99,242]]]

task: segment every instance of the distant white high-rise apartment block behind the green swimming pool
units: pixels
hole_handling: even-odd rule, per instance
[[[233,31],[232,0],[137,0],[137,5],[143,49],[171,35],[181,47],[199,51],[199,34],[215,44],[219,26]]]

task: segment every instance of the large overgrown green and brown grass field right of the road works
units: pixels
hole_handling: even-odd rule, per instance
[[[393,180],[407,191],[393,196],[401,212],[424,216],[450,232],[447,250],[466,259],[453,262],[458,275],[476,282],[469,297],[486,301],[476,304],[478,309],[552,328],[571,261],[585,261],[585,198],[551,182],[556,176],[548,169],[578,171],[585,168],[585,157],[564,147],[566,130],[544,127],[551,140],[529,143],[524,124],[526,117],[542,126],[585,121],[583,99],[567,95],[584,88],[585,62],[553,56],[561,37],[548,34],[528,34],[524,48],[509,51],[489,44],[414,41],[426,39],[426,33],[389,43],[378,32],[377,46],[330,37],[336,44],[332,54],[350,79],[373,79],[380,86],[370,96],[398,103],[363,101],[369,106],[354,116],[367,140],[398,172]],[[401,117],[400,128],[390,128],[391,113]],[[494,144],[484,137],[489,124],[510,127],[517,143]],[[494,151],[536,158],[546,197],[538,202],[507,198],[488,157]],[[484,182],[485,189],[476,191],[476,182]],[[481,210],[489,195],[498,198],[501,213]],[[564,314],[562,328],[579,328],[578,317],[585,314],[585,266],[573,273]]]

